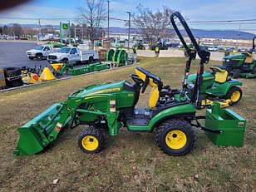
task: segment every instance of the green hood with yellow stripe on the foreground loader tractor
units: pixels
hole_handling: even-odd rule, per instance
[[[86,96],[95,96],[97,94],[109,94],[120,92],[123,90],[124,84],[126,81],[118,81],[118,82],[109,82],[109,83],[102,83],[93,86],[86,86],[81,90],[73,92],[69,98],[77,97],[83,98]]]

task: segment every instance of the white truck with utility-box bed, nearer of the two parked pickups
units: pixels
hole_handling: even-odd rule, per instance
[[[56,62],[92,63],[98,59],[99,59],[98,52],[94,50],[81,50],[77,47],[62,47],[57,52],[53,52],[49,54],[47,57],[47,60],[50,63],[56,63]]]

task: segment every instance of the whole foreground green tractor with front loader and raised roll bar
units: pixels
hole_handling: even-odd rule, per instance
[[[180,91],[173,90],[159,76],[137,66],[131,75],[133,82],[86,86],[19,127],[20,139],[14,155],[37,154],[56,140],[65,128],[83,124],[88,126],[79,135],[78,145],[88,154],[101,151],[105,147],[106,135],[116,136],[121,127],[134,132],[153,133],[157,145],[168,155],[185,155],[192,149],[195,139],[193,127],[207,131],[207,136],[216,145],[243,145],[246,121],[233,111],[219,109],[219,103],[214,103],[206,117],[196,116],[197,109],[201,107],[202,75],[204,64],[209,62],[209,52],[199,49],[185,19],[180,12],[175,12],[170,18],[181,42],[185,43],[175,24],[175,17],[185,27],[200,57],[190,99],[186,96],[185,81]],[[190,67],[195,51],[189,53],[186,68]],[[187,76],[185,73],[185,78]],[[144,93],[147,87],[151,87],[148,107],[135,108],[140,92]],[[204,118],[208,128],[199,124],[198,120]],[[224,130],[226,127],[230,129]]]

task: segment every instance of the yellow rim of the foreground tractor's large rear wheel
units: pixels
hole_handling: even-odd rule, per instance
[[[170,130],[170,132],[165,136],[165,143],[171,149],[180,150],[186,145],[187,136],[181,130]]]

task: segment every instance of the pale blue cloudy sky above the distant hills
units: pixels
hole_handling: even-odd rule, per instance
[[[81,5],[82,0],[34,0],[18,7],[0,12],[0,24],[12,22],[34,23],[36,20],[7,19],[3,17],[34,17],[42,18],[42,24],[57,24],[60,21],[43,20],[49,17],[76,17],[76,7]],[[256,19],[255,0],[110,0],[111,17],[127,19],[129,12],[136,12],[135,7],[141,3],[155,11],[163,5],[180,11],[190,21],[205,20],[234,20],[234,19]],[[62,21],[65,22],[65,21]],[[123,22],[111,21],[111,26],[124,27]],[[201,29],[245,29],[256,31],[256,22],[253,24],[194,24],[190,27]]]

